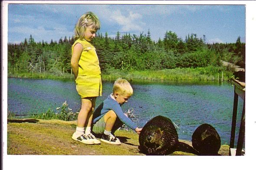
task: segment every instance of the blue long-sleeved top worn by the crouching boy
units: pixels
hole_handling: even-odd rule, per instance
[[[120,104],[112,99],[111,95],[108,95],[107,99],[101,103],[97,109],[95,109],[93,113],[93,124],[95,124],[99,119],[101,119],[108,111],[113,110],[117,117],[123,122],[125,125],[130,127],[131,129],[135,130],[137,125],[129,119],[124,112]]]

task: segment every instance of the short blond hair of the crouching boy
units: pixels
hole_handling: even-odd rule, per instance
[[[113,94],[115,93],[121,95],[128,94],[128,96],[131,96],[133,94],[133,89],[127,80],[118,78],[113,85]]]

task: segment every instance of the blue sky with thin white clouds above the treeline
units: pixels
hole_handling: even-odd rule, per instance
[[[245,41],[245,5],[110,5],[110,4],[9,4],[8,42],[19,43],[30,34],[36,42],[72,37],[79,17],[92,11],[101,21],[98,33],[147,34],[158,41],[166,31],[185,40],[188,34],[206,35],[208,43]]]

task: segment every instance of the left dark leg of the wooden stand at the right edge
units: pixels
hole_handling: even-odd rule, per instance
[[[233,104],[233,116],[232,116],[232,126],[231,126],[231,135],[230,135],[230,148],[234,148],[234,143],[235,143],[237,103],[238,103],[238,95],[234,90],[234,104]],[[231,152],[229,152],[229,155],[231,155]]]

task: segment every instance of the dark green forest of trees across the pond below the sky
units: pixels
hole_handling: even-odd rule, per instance
[[[35,42],[32,35],[20,44],[8,43],[8,76],[12,73],[72,74],[72,38],[60,38],[59,42]],[[121,35],[115,38],[97,35],[95,46],[100,67],[108,70],[163,70],[174,68],[220,67],[221,60],[245,67],[245,43],[240,37],[236,43],[206,43],[206,36],[199,38],[188,34],[185,40],[175,32],[167,31],[163,39],[152,41],[151,33]],[[224,69],[224,67],[222,67]],[[228,69],[228,68],[225,68]]]

